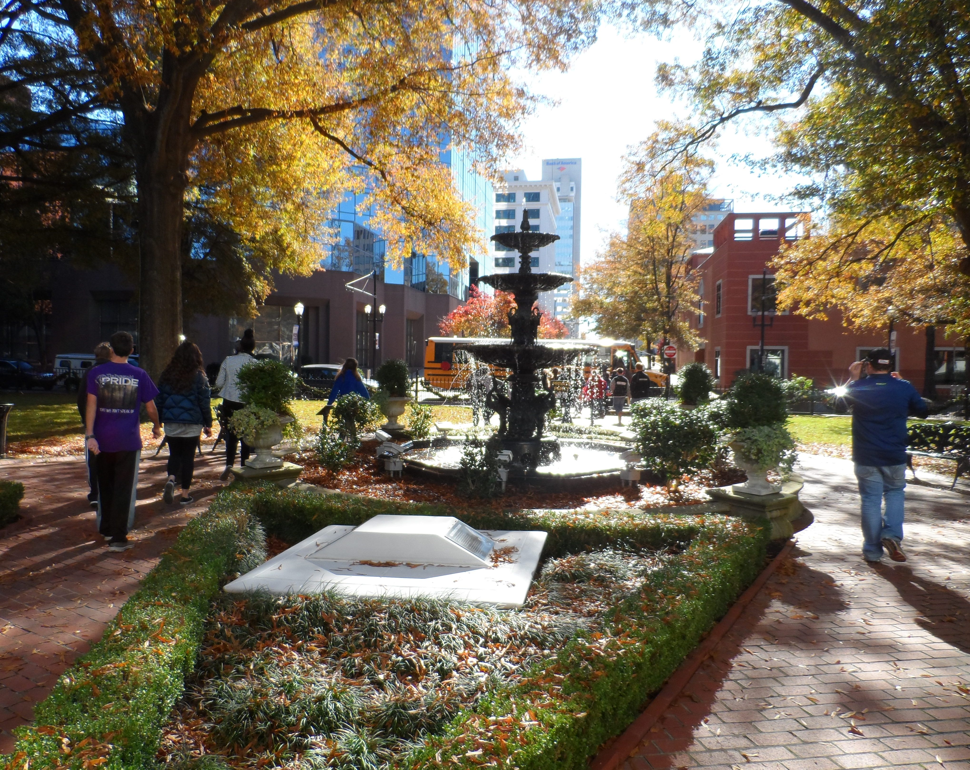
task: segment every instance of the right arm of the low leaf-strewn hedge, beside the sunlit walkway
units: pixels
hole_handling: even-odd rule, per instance
[[[494,758],[519,770],[585,770],[764,566],[767,528],[716,515],[649,518],[694,539],[615,608],[605,632],[577,635],[551,665],[487,695],[397,766],[472,768]]]

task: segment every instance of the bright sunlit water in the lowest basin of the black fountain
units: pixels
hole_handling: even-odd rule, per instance
[[[527,467],[513,463],[509,478],[557,484],[571,479],[617,478],[627,467],[621,458],[630,449],[625,444],[584,441],[581,439],[546,439],[541,442],[502,442],[517,458],[516,446],[533,450],[538,446],[537,465]],[[430,447],[414,448],[404,455],[404,465],[419,473],[436,477],[458,478],[461,475],[462,440],[437,439]]]

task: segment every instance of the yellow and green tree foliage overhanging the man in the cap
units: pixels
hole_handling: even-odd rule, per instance
[[[706,0],[627,4],[646,27],[694,27],[695,64],[659,81],[690,99],[681,152],[759,116],[804,174],[793,197],[819,212],[812,237],[775,261],[780,301],[848,323],[890,318],[970,329],[970,15],[953,2]],[[757,124],[756,124],[757,125]],[[760,126],[765,126],[761,123]]]

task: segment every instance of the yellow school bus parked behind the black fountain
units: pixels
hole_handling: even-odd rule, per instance
[[[429,337],[425,344],[425,385],[436,390],[458,390],[468,385],[469,367],[462,366],[462,354],[456,350],[457,345],[467,345],[469,342],[483,342],[495,344],[501,340],[486,337]],[[506,342],[511,340],[506,339]],[[616,369],[622,366],[628,373],[633,370],[637,363],[640,363],[640,356],[636,354],[636,347],[624,340],[612,340],[605,337],[588,337],[585,340],[548,340],[548,342],[575,342],[581,345],[596,346],[595,351],[584,354],[581,357],[583,362],[583,376],[588,377],[590,368],[596,366],[598,369],[605,366],[609,369]],[[457,354],[457,356],[456,356]],[[646,368],[647,376],[655,385],[666,385],[666,375]],[[492,372],[496,376],[504,376],[505,371],[493,366]]]

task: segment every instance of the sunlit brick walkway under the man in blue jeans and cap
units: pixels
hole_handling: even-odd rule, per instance
[[[851,464],[800,472],[816,523],[624,770],[970,768],[970,497],[911,485],[872,568]]]

